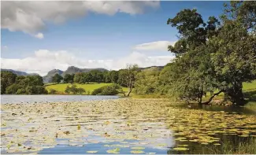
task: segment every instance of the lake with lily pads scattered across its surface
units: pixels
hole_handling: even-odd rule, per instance
[[[241,145],[256,142],[256,116],[243,111],[161,99],[24,96],[2,104],[1,153],[244,153]]]

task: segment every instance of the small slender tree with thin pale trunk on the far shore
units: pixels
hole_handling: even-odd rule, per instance
[[[120,71],[118,80],[121,85],[128,87],[127,96],[130,95],[135,84],[135,76],[138,72],[138,65],[127,65],[125,69]]]

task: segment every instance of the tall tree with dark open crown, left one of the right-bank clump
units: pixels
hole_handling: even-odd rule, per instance
[[[209,76],[211,65],[206,42],[217,35],[219,22],[215,17],[209,17],[206,24],[196,9],[184,9],[169,19],[167,24],[178,29],[180,40],[174,46],[169,46],[176,59],[169,65],[170,73],[161,75],[169,75],[170,87],[165,93],[202,104],[203,95],[212,92],[214,85],[214,80]]]

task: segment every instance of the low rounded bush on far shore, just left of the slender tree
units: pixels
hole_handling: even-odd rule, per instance
[[[115,95],[121,90],[121,86],[112,84],[109,86],[103,86],[92,91],[92,95]]]

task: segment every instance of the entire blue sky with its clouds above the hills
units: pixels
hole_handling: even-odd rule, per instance
[[[224,2],[1,2],[1,68],[45,76],[56,68],[166,65],[178,31],[166,24],[181,9],[204,20]]]

